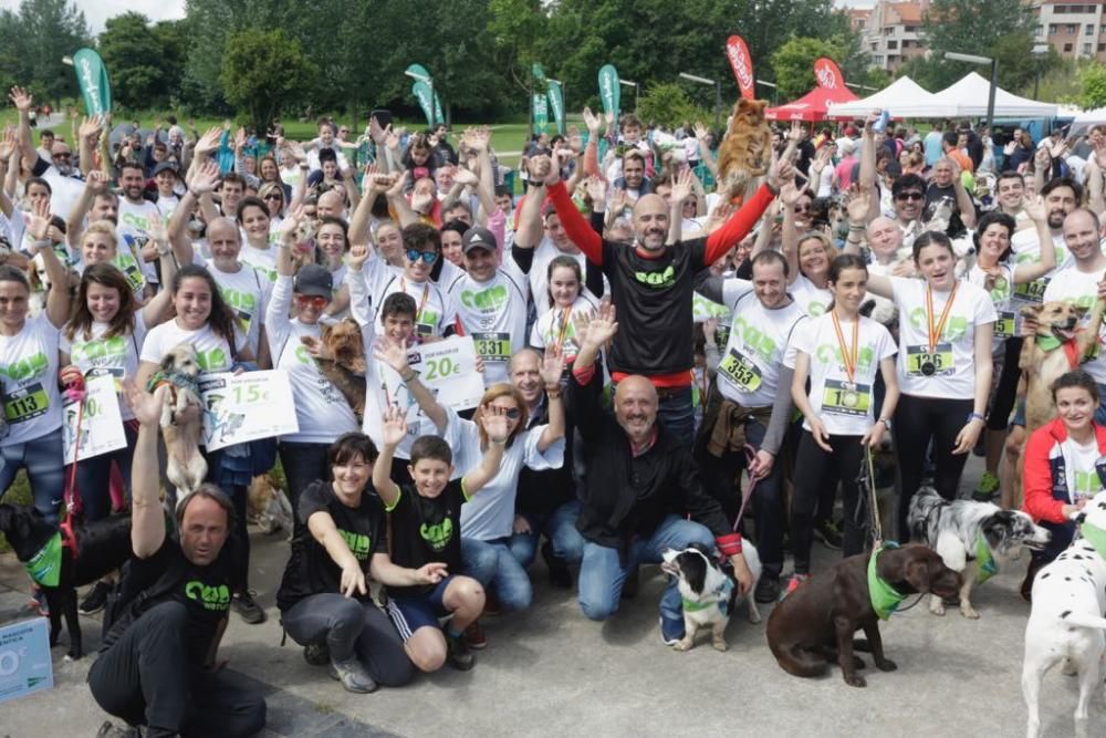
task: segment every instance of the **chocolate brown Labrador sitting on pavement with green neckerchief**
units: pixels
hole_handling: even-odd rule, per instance
[[[884,656],[879,617],[868,599],[868,553],[849,557],[821,572],[784,597],[768,619],[768,645],[780,667],[795,676],[821,676],[830,658],[841,664],[845,684],[867,685],[856,673],[864,662],[853,654],[870,651],[883,672],[898,668]],[[924,545],[885,549],[876,562],[879,576],[900,594],[930,592],[941,597],[960,590],[960,575],[945,565],[941,557]],[[853,634],[864,631],[864,640],[853,643]]]

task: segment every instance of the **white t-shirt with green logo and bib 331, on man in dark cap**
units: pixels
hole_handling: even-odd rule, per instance
[[[511,355],[526,345],[526,276],[508,257],[487,282],[461,272],[447,285],[446,294],[457,308],[465,333],[472,336],[477,355],[483,357],[484,385],[508,382]]]

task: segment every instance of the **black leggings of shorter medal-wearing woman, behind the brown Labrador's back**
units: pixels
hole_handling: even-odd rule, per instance
[[[856,478],[864,464],[860,436],[830,436],[830,454],[817,445],[810,430],[803,430],[795,453],[795,492],[791,500],[791,543],[795,554],[795,573],[811,573],[811,537],[814,511],[826,489],[841,482],[845,530],[842,553],[851,557],[864,551],[867,529],[867,505],[860,496]]]

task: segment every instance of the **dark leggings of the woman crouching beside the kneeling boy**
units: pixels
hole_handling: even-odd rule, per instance
[[[325,643],[332,661],[356,656],[377,684],[399,687],[415,676],[396,626],[372,602],[312,594],[283,611],[281,622],[300,645]]]

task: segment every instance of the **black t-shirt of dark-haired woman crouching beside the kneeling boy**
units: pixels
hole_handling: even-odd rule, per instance
[[[342,591],[342,568],[307,530],[307,519],[314,513],[330,513],[365,573],[373,554],[387,550],[384,506],[375,495],[362,495],[361,505],[351,508],[338,500],[331,482],[314,481],[300,493],[299,512],[303,531],[292,541],[292,557],[276,593],[276,606],[282,611],[312,594]],[[358,592],[354,596],[362,602],[372,601],[368,594]]]

